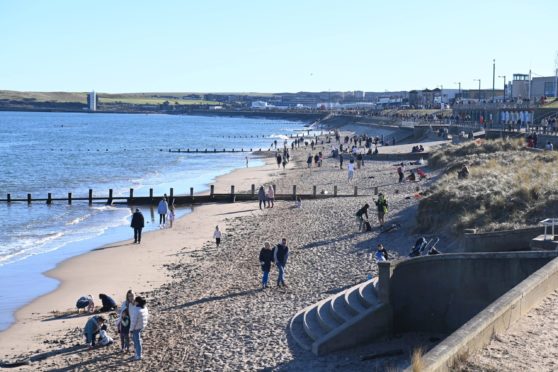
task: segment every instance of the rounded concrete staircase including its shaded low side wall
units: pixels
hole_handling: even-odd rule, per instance
[[[379,300],[376,283],[368,280],[298,312],[289,324],[294,340],[324,355],[391,333],[392,310]]]

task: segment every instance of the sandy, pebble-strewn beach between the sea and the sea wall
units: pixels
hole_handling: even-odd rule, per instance
[[[408,146],[390,150],[405,152]],[[316,151],[327,153],[329,148],[326,144]],[[31,357],[30,366],[19,368],[52,371],[370,371],[409,366],[415,347],[428,351],[443,335],[398,334],[316,358],[295,343],[287,324],[300,309],[376,275],[371,256],[378,243],[393,258],[407,255],[417,238],[413,227],[420,192],[438,173],[429,172],[426,181],[400,184],[393,162],[365,161],[349,182],[347,162],[339,169],[337,159],[325,158],[322,167],[308,168],[309,152],[309,148],[293,151],[285,170],[268,158],[263,167],[234,171],[217,180],[216,190],[226,192],[234,184],[246,192],[251,184],[275,184],[278,193],[291,193],[293,185],[300,193],[311,193],[313,186],[318,193],[332,193],[337,186],[339,194],[352,195],[356,186],[359,196],[306,199],[302,208],[294,208],[291,201],[276,201],[274,208],[262,210],[257,202],[196,206],[173,229],[146,234],[140,246],[130,240],[68,260],[48,273],[61,280],[60,287],[21,309],[17,323],[0,334],[2,359]],[[406,169],[414,167],[407,164]],[[381,233],[376,222],[375,187],[387,196],[387,223],[400,225],[389,233]],[[362,233],[354,213],[365,203],[372,206],[373,229]],[[218,249],[212,239],[215,225],[223,231]],[[275,286],[277,270],[272,268],[271,288],[262,290],[259,251],[264,242],[274,245],[283,237],[290,247],[288,287]],[[441,238],[438,247],[443,250],[450,241]],[[87,316],[52,313],[71,310],[87,293],[105,292],[120,302],[129,288],[146,296],[151,314],[141,362],[122,354],[118,342],[86,351],[82,329]],[[534,319],[540,321],[538,315]],[[110,333],[116,339],[112,323]],[[393,349],[404,354],[361,360]],[[482,355],[468,365],[470,369],[491,370],[496,359],[489,353],[487,362]]]

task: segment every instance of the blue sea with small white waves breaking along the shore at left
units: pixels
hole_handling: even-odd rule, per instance
[[[249,153],[169,149],[268,149],[308,123],[223,116],[0,112],[0,199],[189,194],[215,178],[263,164]],[[314,133],[311,133],[314,134]],[[227,190],[216,190],[226,192]],[[148,209],[148,208],[147,208]],[[177,217],[190,213],[178,208]],[[102,245],[130,239],[132,210],[99,201],[0,202],[0,331],[15,311],[56,289],[43,273]],[[159,228],[144,210],[144,231]],[[84,289],[85,290],[85,289]],[[72,307],[73,304],[68,304]]]

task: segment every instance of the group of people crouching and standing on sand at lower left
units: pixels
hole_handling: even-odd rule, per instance
[[[134,296],[132,290],[126,293],[126,299],[118,309],[116,302],[106,294],[100,294],[99,298],[103,303],[103,307],[99,312],[117,311],[118,318],[116,320],[116,328],[120,335],[120,345],[122,352],[130,351],[130,334],[135,349],[135,360],[142,358],[142,339],[141,332],[147,326],[149,312],[147,311],[147,301],[142,296]],[[95,304],[91,295],[80,297],[76,303],[78,312],[81,309],[93,313]],[[93,349],[98,343],[101,346],[108,346],[114,343],[114,340],[108,334],[107,318],[103,315],[94,315],[87,320],[83,329],[85,342],[89,349]]]

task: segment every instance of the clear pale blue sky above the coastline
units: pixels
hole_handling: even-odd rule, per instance
[[[508,79],[554,74],[557,14],[557,0],[0,0],[0,89],[491,88],[493,58]]]

